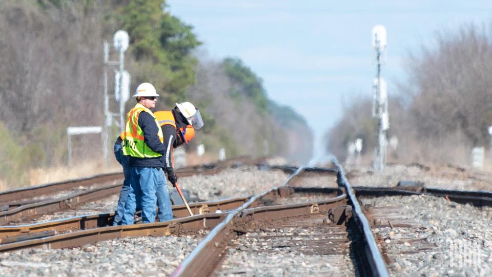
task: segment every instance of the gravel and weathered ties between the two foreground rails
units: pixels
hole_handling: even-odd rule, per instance
[[[355,238],[348,225],[335,225],[326,214],[271,220],[268,226],[248,230],[231,241],[220,268],[224,275],[340,276],[358,273],[352,261]]]

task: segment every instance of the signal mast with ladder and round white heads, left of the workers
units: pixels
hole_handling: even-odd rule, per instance
[[[108,161],[109,134],[111,126],[115,123],[122,132],[125,129],[125,103],[130,97],[130,74],[125,70],[125,51],[128,49],[128,33],[123,30],[117,31],[113,36],[113,47],[119,52],[119,61],[109,60],[109,44],[104,41],[104,115],[105,124],[103,130],[104,144],[104,164]],[[118,66],[118,70],[115,67]],[[114,76],[114,95],[108,93],[108,67],[113,67]],[[118,112],[111,112],[110,97],[113,97],[118,103]],[[118,117],[119,121],[114,121],[113,117]]]

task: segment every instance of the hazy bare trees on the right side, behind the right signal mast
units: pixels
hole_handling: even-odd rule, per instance
[[[469,165],[471,148],[490,143],[492,124],[492,33],[464,25],[444,30],[435,44],[408,54],[407,80],[390,88],[388,136],[399,140],[389,160]],[[326,134],[327,148],[344,160],[346,146],[364,138],[365,155],[376,145],[372,96],[355,99]]]

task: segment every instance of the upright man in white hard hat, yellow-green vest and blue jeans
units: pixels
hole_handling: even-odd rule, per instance
[[[155,108],[159,94],[152,84],[142,83],[135,90],[137,104],[128,112],[122,151],[129,156],[130,191],[125,203],[122,225],[133,224],[136,201],[141,202],[142,222],[155,221],[157,184],[162,182],[162,129],[150,109]]]

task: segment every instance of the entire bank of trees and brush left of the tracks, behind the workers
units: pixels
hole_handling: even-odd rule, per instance
[[[207,151],[226,148],[228,156],[262,155],[268,145],[268,154],[309,159],[299,153],[311,146],[297,143],[312,140],[303,118],[272,103],[261,78],[237,58],[197,56],[193,26],[170,14],[165,1],[4,0],[0,184],[27,185],[31,169],[65,165],[66,128],[103,124],[103,41],[112,43],[119,29],[131,39],[125,60],[131,94],[150,82],[162,96],[157,109],[187,100],[200,108],[206,126],[188,150],[203,143]],[[110,58],[117,60],[114,53]],[[126,109],[133,105],[130,98]],[[116,135],[115,127],[111,141]],[[76,162],[100,163],[100,142],[98,135],[74,137]]]

